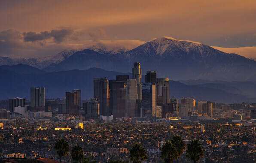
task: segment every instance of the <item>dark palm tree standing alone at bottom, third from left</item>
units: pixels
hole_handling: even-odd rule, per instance
[[[129,157],[133,163],[141,163],[148,158],[145,148],[137,143],[132,146]]]

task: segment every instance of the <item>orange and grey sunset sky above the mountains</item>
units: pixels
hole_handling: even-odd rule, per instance
[[[1,0],[0,22],[5,57],[170,36],[256,58],[256,0]]]

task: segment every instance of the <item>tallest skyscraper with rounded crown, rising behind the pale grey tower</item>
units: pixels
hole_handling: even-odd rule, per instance
[[[135,62],[132,69],[132,78],[137,81],[137,94],[139,102],[142,100],[142,81],[141,81],[141,69],[140,63]]]

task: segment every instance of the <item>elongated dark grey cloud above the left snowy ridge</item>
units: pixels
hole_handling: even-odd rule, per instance
[[[71,29],[57,29],[51,30],[50,32],[43,31],[40,33],[24,32],[23,36],[25,42],[43,41],[53,38],[56,43],[61,43],[67,36],[71,35],[72,33],[73,30]]]

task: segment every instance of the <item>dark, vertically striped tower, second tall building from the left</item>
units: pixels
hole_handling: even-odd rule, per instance
[[[46,88],[30,88],[31,107],[46,106]]]

